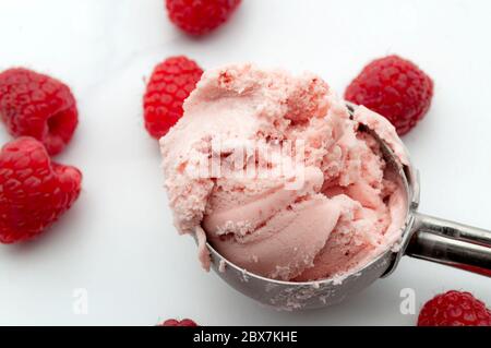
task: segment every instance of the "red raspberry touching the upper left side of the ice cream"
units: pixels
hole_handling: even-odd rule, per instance
[[[155,67],[143,98],[145,128],[159,139],[182,117],[182,104],[196,87],[203,70],[184,56]]]

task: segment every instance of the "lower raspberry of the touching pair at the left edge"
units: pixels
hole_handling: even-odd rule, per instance
[[[79,169],[51,163],[34,137],[5,144],[0,152],[0,242],[43,232],[77,199],[81,181]]]

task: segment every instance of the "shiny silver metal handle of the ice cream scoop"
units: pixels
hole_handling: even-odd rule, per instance
[[[491,231],[415,214],[407,255],[491,277]]]

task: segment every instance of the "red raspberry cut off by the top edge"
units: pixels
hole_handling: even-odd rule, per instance
[[[191,35],[203,35],[224,24],[241,0],[166,0],[170,21]]]

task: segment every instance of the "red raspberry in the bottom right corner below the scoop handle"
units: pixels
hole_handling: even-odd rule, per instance
[[[423,305],[418,326],[491,326],[491,311],[469,292],[452,290]]]

